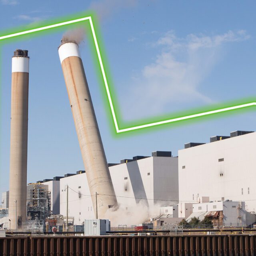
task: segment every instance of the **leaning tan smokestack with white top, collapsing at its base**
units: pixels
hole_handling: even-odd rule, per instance
[[[59,47],[58,52],[94,212],[96,214],[95,194],[97,192],[99,194],[97,197],[98,218],[104,218],[108,208],[117,206],[117,201],[78,44],[66,42]]]

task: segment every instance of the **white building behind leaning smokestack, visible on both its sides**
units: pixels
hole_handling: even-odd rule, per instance
[[[120,164],[109,164],[114,191],[121,209],[129,212],[138,204],[153,210],[178,202],[178,158],[171,152],[152,152],[152,156],[135,156]],[[85,171],[65,174],[60,179],[60,214],[66,216],[68,186],[68,216],[74,217],[74,225],[84,219],[95,218]],[[147,218],[147,216],[145,216]]]

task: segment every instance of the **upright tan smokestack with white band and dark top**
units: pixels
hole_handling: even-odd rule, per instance
[[[28,70],[28,51],[16,50],[12,57],[10,134],[9,218],[12,230],[21,229],[22,222],[26,222]]]

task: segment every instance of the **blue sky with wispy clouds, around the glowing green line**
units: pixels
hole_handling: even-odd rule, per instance
[[[256,94],[256,3],[0,0],[0,30],[95,10],[125,122]],[[83,170],[57,47],[63,32],[2,47],[0,192],[9,187],[11,56],[30,55],[28,182]],[[86,42],[80,46],[108,162],[255,130],[253,110],[113,136]]]

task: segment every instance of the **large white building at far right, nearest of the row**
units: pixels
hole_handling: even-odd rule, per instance
[[[244,201],[245,210],[255,212],[255,142],[255,132],[235,131],[179,150],[180,203],[198,203],[202,197]]]

